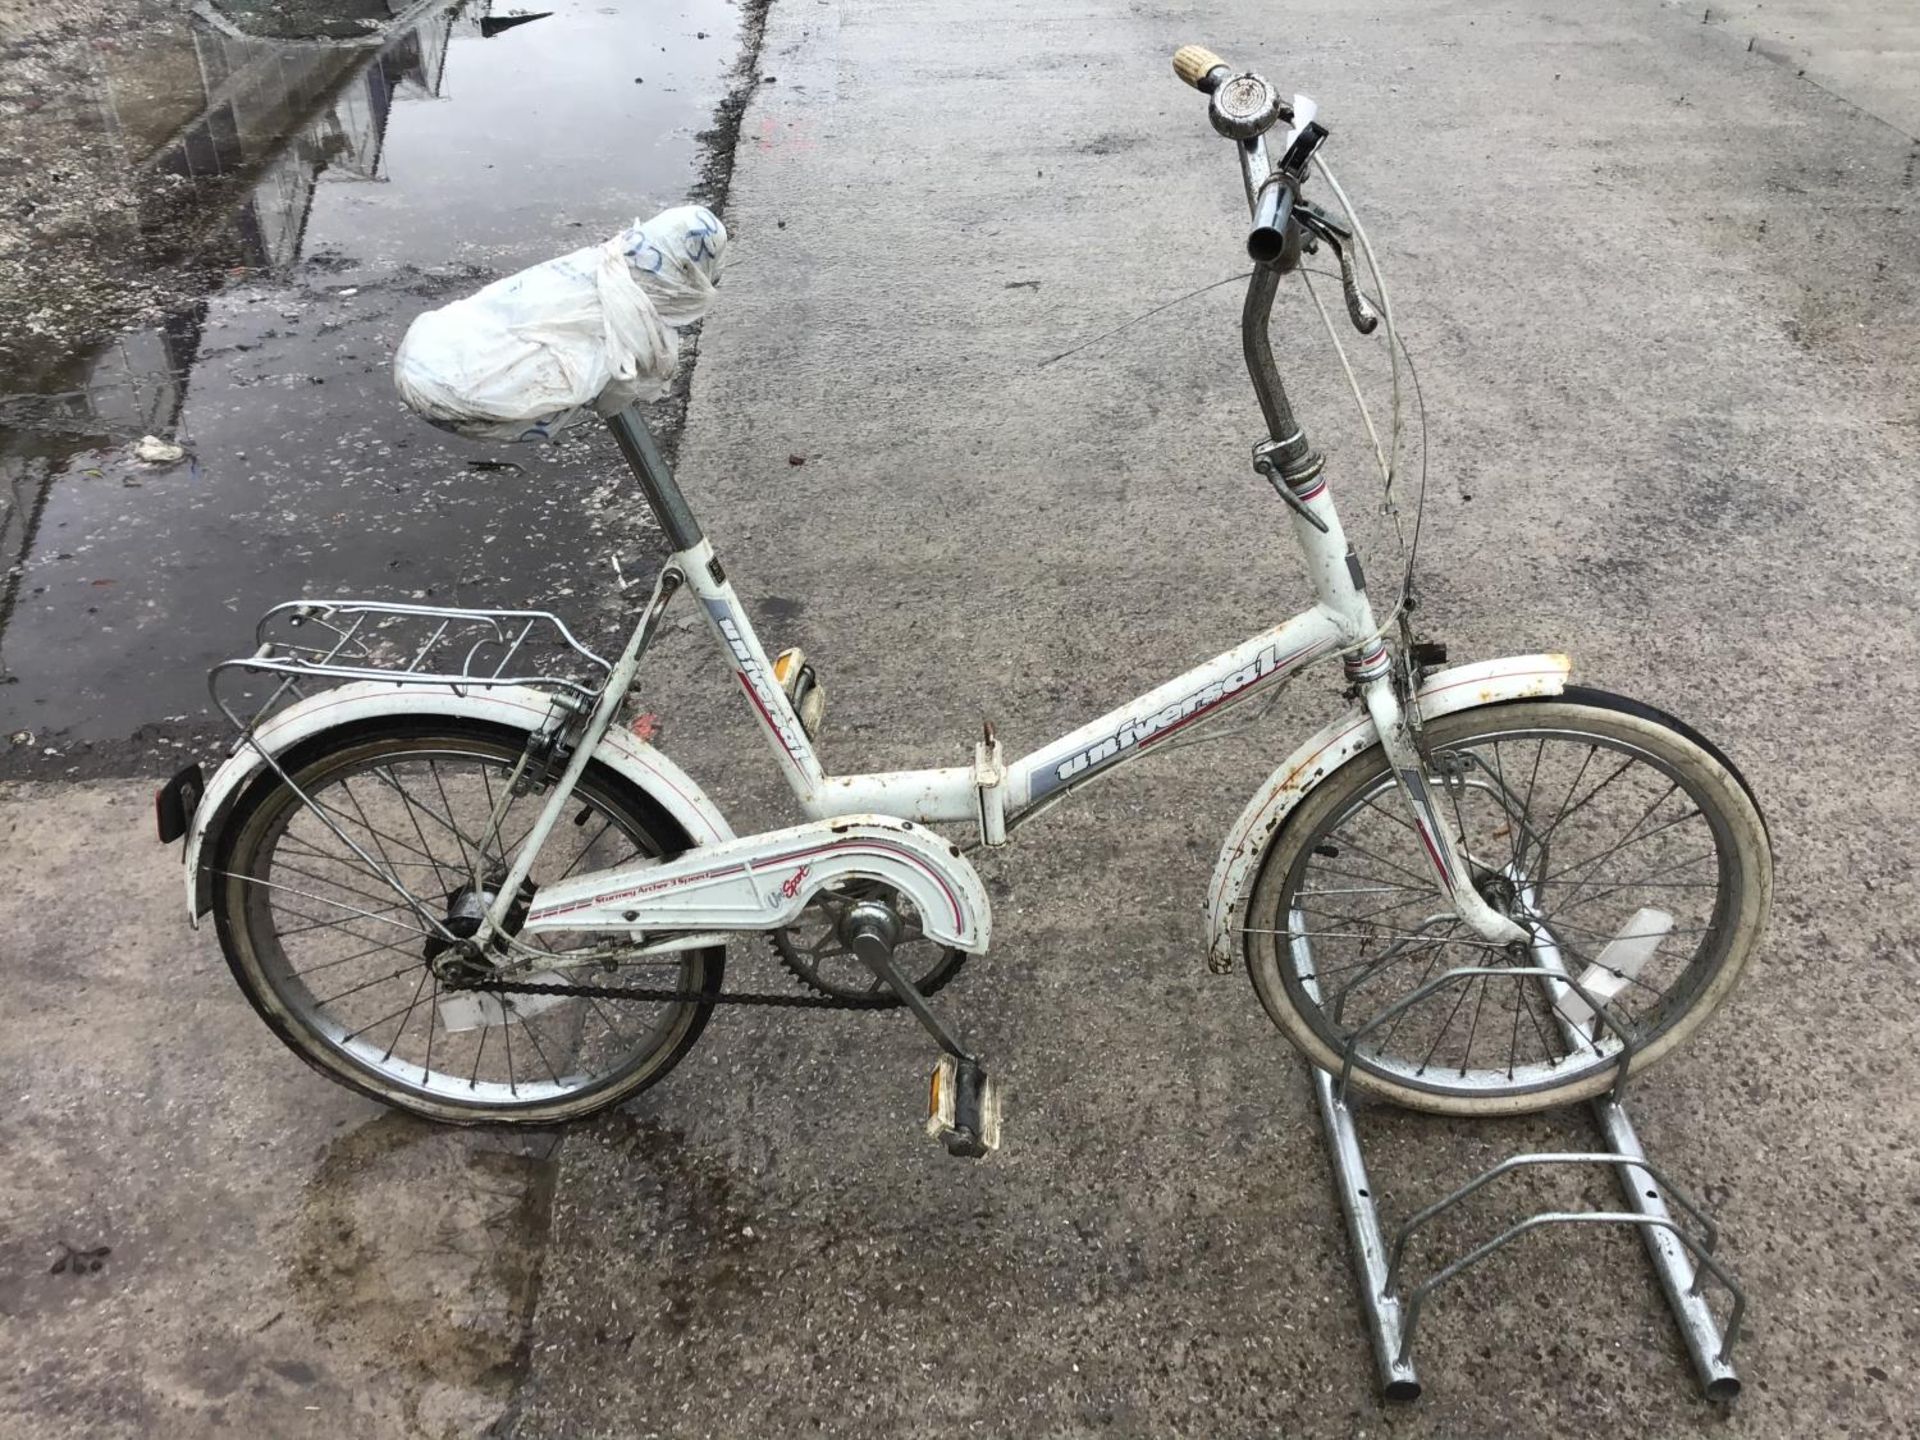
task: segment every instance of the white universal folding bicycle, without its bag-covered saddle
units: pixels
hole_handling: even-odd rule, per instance
[[[989,726],[966,764],[829,776],[812,666],[799,651],[768,662],[645,422],[622,409],[609,424],[672,557],[616,660],[545,612],[298,601],[215,670],[217,697],[234,676],[269,693],[252,718],[223,701],[242,739],[211,781],[188,770],[161,791],[161,837],[186,837],[196,924],[213,912],[234,977],[296,1054],[434,1119],[553,1123],[659,1081],[720,1002],[904,1004],[943,1050],[929,1131],[983,1154],[996,1085],[929,1004],[989,945],[964,849],[1008,843],[1331,657],[1356,703],[1260,787],[1206,900],[1210,966],[1244,958],[1315,1066],[1421,1110],[1538,1110],[1653,1064],[1726,998],[1770,895],[1749,787],[1678,720],[1569,685],[1561,655],[1442,668],[1409,628],[1411,564],[1377,618],[1267,323],[1302,252],[1332,250],[1352,323],[1386,321],[1390,486],[1400,353],[1379,269],[1317,154],[1311,102],[1283,104],[1198,48],[1175,71],[1212,96],[1240,157],[1244,348],[1267,432],[1254,467],[1288,511],[1313,607],[1031,755],[1010,758]],[[1342,219],[1302,200],[1309,173]],[[682,589],[804,822],[735,835],[626,722]],[[804,991],[724,991],[726,945],[743,937],[768,937]]]

